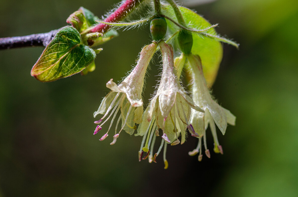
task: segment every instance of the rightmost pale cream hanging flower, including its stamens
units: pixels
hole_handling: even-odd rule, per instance
[[[230,125],[235,125],[236,117],[229,110],[221,107],[216,101],[213,100],[207,88],[200,57],[193,54],[187,55],[187,66],[192,80],[191,90],[193,100],[195,104],[205,111],[205,113],[202,113],[193,110],[190,117],[190,124],[200,137],[203,136],[205,154],[207,157],[210,158],[210,152],[206,143],[206,129],[208,128],[208,125],[210,126],[214,140],[214,152],[223,154],[223,149],[218,142],[215,124],[224,135],[226,132],[227,123]],[[198,158],[199,161],[202,159],[201,147],[202,142],[200,138],[197,148],[189,152],[190,155],[195,155],[200,152]]]

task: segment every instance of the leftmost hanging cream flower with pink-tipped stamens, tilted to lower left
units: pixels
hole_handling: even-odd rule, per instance
[[[111,145],[116,142],[122,129],[132,135],[136,129],[135,123],[141,123],[143,113],[142,90],[144,85],[144,77],[149,62],[156,51],[156,47],[156,43],[152,43],[143,47],[142,51],[140,52],[137,65],[119,85],[113,82],[113,79],[107,82],[106,86],[111,89],[111,91],[107,94],[107,96],[105,96],[105,98],[103,98],[98,110],[94,112],[94,118],[98,114],[104,114],[99,121],[95,121],[94,123],[100,124],[104,119],[105,120],[96,127],[94,135],[99,132],[102,128],[102,125],[108,121],[113,114],[114,115],[107,133],[100,138],[100,141],[104,140],[108,136],[108,132],[111,129],[111,126],[119,110],[120,115],[116,123],[114,140]],[[122,127],[117,133],[117,127],[120,119],[122,121]]]

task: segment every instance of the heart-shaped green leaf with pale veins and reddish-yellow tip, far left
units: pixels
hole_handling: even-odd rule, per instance
[[[46,46],[31,75],[41,82],[55,81],[82,71],[95,57],[94,50],[82,44],[79,32],[65,26]]]

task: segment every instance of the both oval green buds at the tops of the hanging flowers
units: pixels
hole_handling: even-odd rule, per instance
[[[153,40],[160,41],[164,39],[167,33],[167,22],[164,17],[153,18],[150,22],[150,33]],[[190,32],[182,29],[178,34],[178,44],[184,54],[190,54],[193,46],[193,36]]]

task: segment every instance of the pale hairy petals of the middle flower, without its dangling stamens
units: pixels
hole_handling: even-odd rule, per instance
[[[195,105],[177,78],[174,68],[173,47],[163,41],[159,43],[159,46],[163,62],[162,76],[156,95],[151,99],[145,113],[147,121],[151,121],[155,115],[156,125],[167,136],[165,141],[172,143],[175,139],[176,119],[178,119],[179,125],[181,123],[181,125],[188,126],[191,108],[201,112],[204,110]]]

